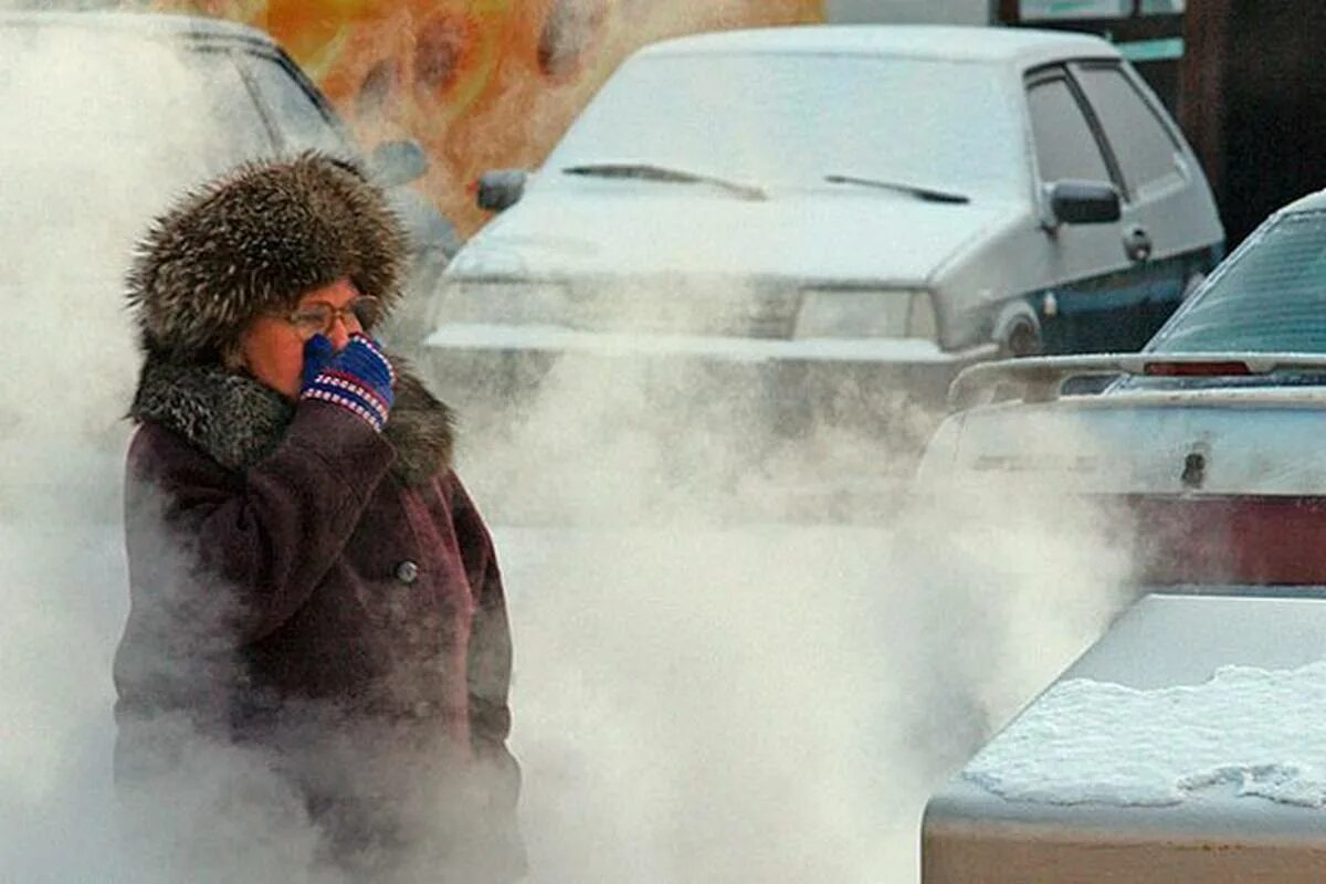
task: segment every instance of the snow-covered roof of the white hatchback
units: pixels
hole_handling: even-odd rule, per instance
[[[666,40],[642,56],[729,53],[890,56],[1036,68],[1065,57],[1118,58],[1105,40],[1029,28],[813,25],[725,30]]]

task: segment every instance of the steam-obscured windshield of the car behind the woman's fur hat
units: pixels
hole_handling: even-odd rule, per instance
[[[126,196],[106,192],[121,171],[160,200],[272,150],[225,53],[82,28],[0,27],[0,126],[4,180],[68,192],[84,211],[89,197]]]

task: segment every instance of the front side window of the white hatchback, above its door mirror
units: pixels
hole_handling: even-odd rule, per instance
[[[1067,80],[1033,81],[1028,85],[1026,105],[1042,182],[1111,182],[1101,144]]]

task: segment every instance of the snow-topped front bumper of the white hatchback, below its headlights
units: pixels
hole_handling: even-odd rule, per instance
[[[728,362],[806,359],[815,362],[899,362],[948,364],[971,354],[952,354],[932,341],[808,339],[768,341],[717,335],[640,335],[577,331],[549,325],[448,323],[424,341],[427,347],[464,350],[541,350],[602,357],[686,355]]]

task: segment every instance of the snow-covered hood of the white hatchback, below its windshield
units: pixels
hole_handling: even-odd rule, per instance
[[[648,187],[650,192],[644,188]],[[456,276],[728,274],[924,285],[1014,203],[939,204],[866,190],[774,192],[615,184],[530,192],[456,256]],[[1028,209],[1029,211],[1029,209]]]

